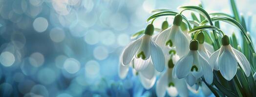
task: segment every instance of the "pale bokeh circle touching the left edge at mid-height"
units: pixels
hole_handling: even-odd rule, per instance
[[[9,51],[4,51],[1,53],[0,55],[0,63],[3,65],[3,66],[11,66],[13,65],[15,62],[15,57],[14,55],[9,52]]]

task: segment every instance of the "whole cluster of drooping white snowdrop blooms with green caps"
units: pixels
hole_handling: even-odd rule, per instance
[[[171,97],[188,97],[189,90],[197,91],[199,87],[204,94],[210,95],[219,87],[213,81],[237,80],[235,75],[238,70],[244,71],[246,77],[250,76],[249,61],[242,52],[231,46],[229,36],[214,26],[201,26],[200,29],[199,26],[188,32],[186,27],[189,24],[184,23],[183,18],[181,13],[177,13],[171,27],[164,21],[160,32],[154,35],[154,26],[149,24],[145,34],[124,49],[119,65],[120,78],[124,79],[131,67],[145,89],[150,89],[156,83],[158,97],[164,97],[166,92]],[[219,48],[214,49],[213,44],[205,42],[207,32],[204,29],[222,32]],[[215,39],[218,44],[218,35]]]

